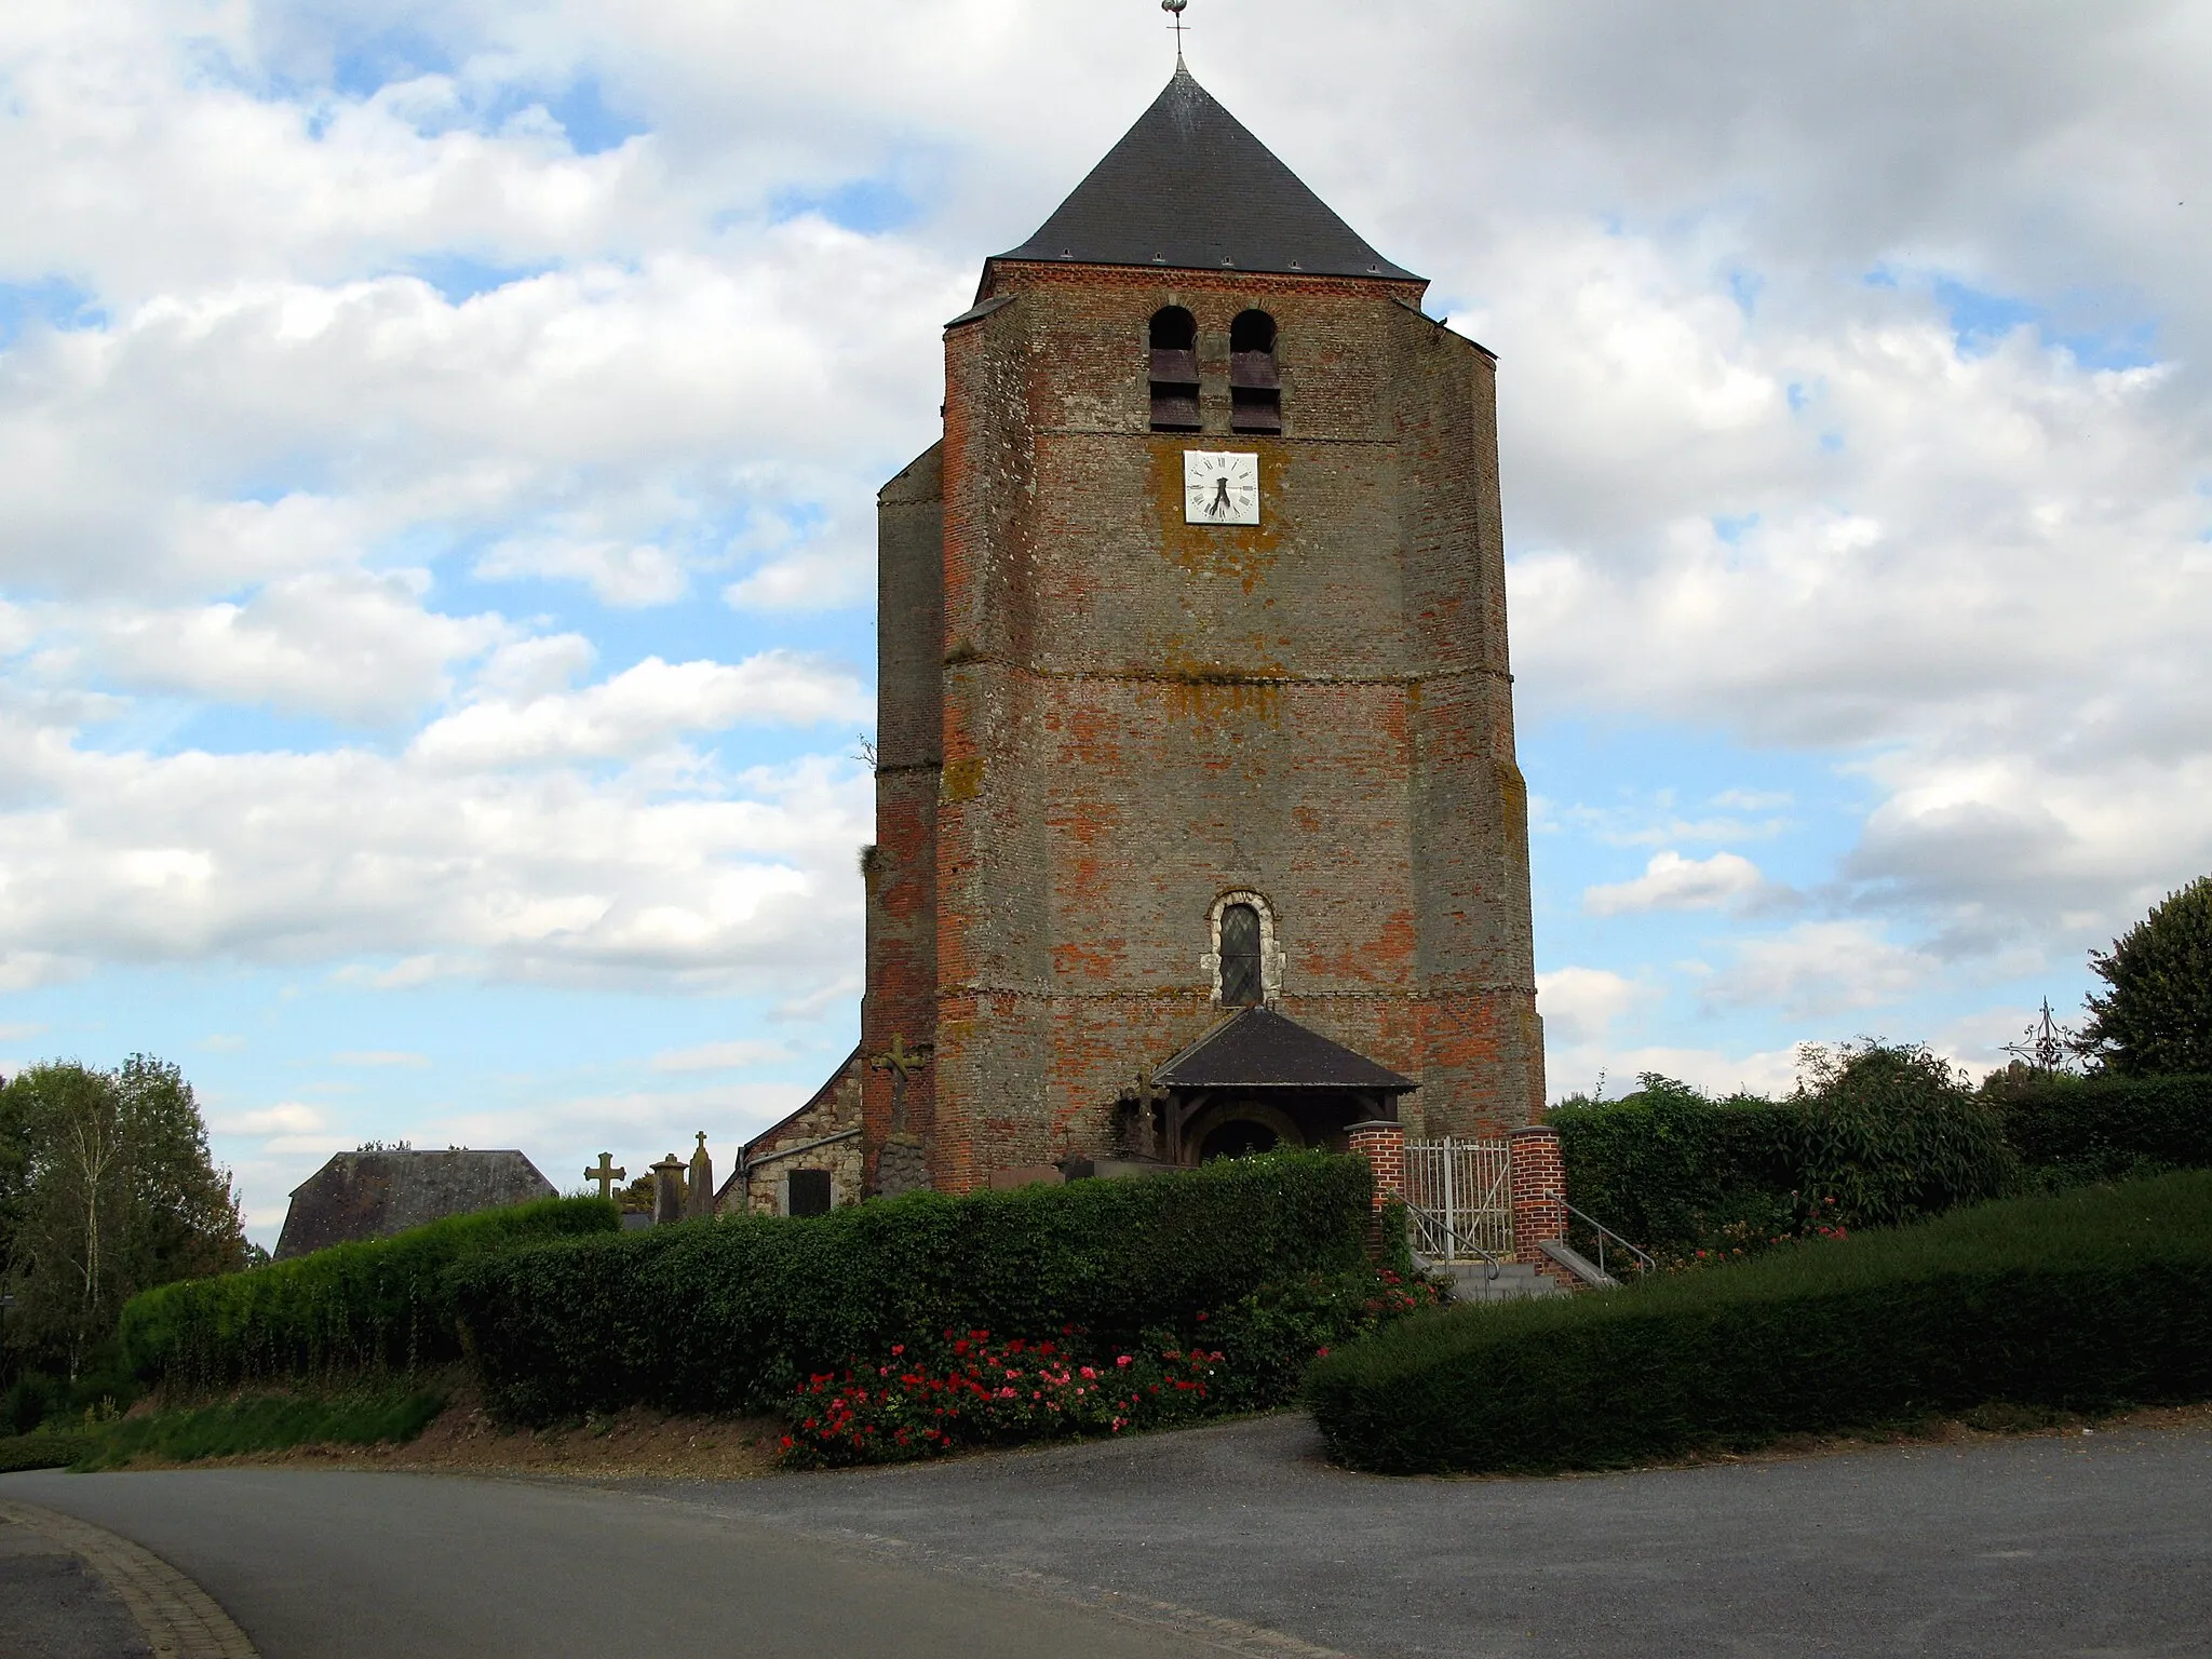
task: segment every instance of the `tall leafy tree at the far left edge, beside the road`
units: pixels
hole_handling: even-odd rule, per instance
[[[49,1062],[0,1088],[0,1245],[9,1358],[71,1378],[139,1290],[246,1265],[237,1194],[177,1066]]]

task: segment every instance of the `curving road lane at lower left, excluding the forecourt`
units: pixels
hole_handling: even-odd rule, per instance
[[[263,1659],[1219,1655],[1172,1628],[586,1484],[49,1471],[0,1478],[0,1498],[144,1544]]]

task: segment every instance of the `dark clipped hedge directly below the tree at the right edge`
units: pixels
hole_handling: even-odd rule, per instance
[[[2004,1137],[2055,1186],[2212,1168],[2212,1077],[1997,1086]]]

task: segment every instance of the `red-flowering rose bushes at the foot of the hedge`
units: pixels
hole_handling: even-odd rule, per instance
[[[1124,1354],[1075,1327],[1042,1343],[947,1329],[807,1378],[785,1405],[783,1455],[799,1469],[907,1462],[1287,1405],[1316,1354],[1440,1301],[1425,1279],[1360,1267],[1263,1287],[1223,1314],[1194,1314],[1186,1336],[1155,1332]]]

